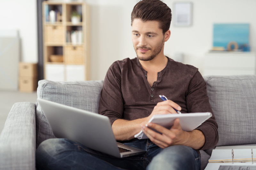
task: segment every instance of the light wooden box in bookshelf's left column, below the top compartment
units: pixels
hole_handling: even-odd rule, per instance
[[[63,26],[57,25],[47,25],[45,26],[45,39],[46,43],[55,43],[61,44],[63,43]]]

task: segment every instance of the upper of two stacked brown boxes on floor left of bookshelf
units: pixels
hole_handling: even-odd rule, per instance
[[[19,63],[20,76],[37,77],[37,64],[36,63]]]

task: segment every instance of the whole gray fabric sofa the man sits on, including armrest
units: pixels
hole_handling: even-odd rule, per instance
[[[219,131],[217,146],[256,144],[256,75],[208,76],[207,93]],[[79,109],[98,112],[103,81],[38,82],[37,96]],[[55,138],[40,106],[15,103],[0,135],[0,169],[35,169],[35,152]],[[202,169],[212,149],[201,152]]]

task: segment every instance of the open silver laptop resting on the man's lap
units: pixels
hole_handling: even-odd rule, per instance
[[[93,150],[118,158],[146,151],[116,142],[107,116],[37,99],[57,138],[68,138]]]

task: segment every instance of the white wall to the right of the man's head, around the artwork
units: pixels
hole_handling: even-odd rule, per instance
[[[180,0],[177,0],[180,1]],[[173,3],[165,0],[173,9]],[[255,0],[192,0],[193,25],[175,27],[171,24],[171,38],[165,47],[165,54],[172,57],[175,52],[185,54],[185,63],[203,71],[203,57],[212,48],[214,23],[250,23],[251,50],[256,51],[256,1]],[[232,61],[231,61],[232,62]]]

